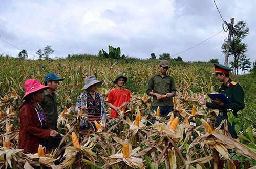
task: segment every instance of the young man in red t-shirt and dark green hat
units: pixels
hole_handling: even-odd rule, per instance
[[[116,87],[109,92],[108,98],[106,99],[106,105],[111,108],[110,118],[118,118],[118,111],[122,105],[122,109],[130,104],[131,94],[128,89],[123,88],[123,85],[127,82],[127,77],[124,77],[121,74],[116,76],[116,80],[113,83],[116,84]],[[127,116],[127,115],[125,115]]]

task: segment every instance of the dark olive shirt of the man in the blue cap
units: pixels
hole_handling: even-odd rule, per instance
[[[53,130],[58,131],[57,121],[58,121],[58,110],[57,110],[57,98],[56,94],[53,92],[52,95],[48,90],[44,91],[44,99],[42,100],[42,106],[44,107],[46,118],[49,123],[49,127]]]

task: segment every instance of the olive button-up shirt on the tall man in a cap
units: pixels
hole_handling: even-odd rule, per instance
[[[166,93],[176,93],[176,87],[173,77],[169,75],[161,76],[159,72],[150,77],[147,84],[146,93],[159,93],[160,95],[165,95]],[[153,96],[152,106],[173,106],[173,97],[163,98],[157,100],[156,96]]]

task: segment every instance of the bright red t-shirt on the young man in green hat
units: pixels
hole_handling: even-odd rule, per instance
[[[131,100],[130,97],[131,97],[131,94],[128,89],[123,88],[122,90],[118,90],[117,88],[114,88],[109,92],[106,102],[110,102],[114,106],[120,107],[124,102],[130,102]],[[117,118],[117,117],[118,117],[118,113],[116,112],[116,110],[111,108],[110,118]]]

